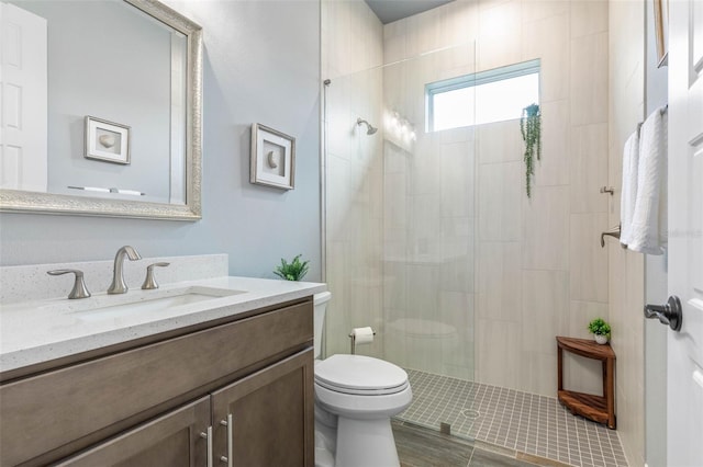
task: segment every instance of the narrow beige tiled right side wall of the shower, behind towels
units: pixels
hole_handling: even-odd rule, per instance
[[[645,4],[610,2],[610,225],[620,220],[622,151],[645,116]],[[644,255],[609,242],[609,301],[617,354],[617,432],[631,466],[645,465]]]

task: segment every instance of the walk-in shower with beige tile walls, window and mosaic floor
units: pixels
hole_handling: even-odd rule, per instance
[[[370,326],[357,353],[406,368],[426,397],[403,420],[572,463],[581,454],[565,457],[559,436],[582,426],[555,398],[555,335],[585,338],[607,311],[595,228],[607,200],[582,176],[607,170],[607,125],[588,101],[598,90],[582,92],[607,57],[593,67],[587,42],[561,46],[581,45],[572,2],[522,5],[450,2],[382,25],[364,1],[322,2],[325,352],[348,352],[349,331]],[[544,37],[521,35],[543,20]],[[503,91],[513,78],[532,91]],[[505,102],[517,115],[496,116]],[[527,198],[520,111],[533,102],[544,152]],[[570,388],[600,391],[599,368],[569,365]],[[553,424],[554,437],[539,431]],[[614,449],[616,436],[591,428]]]

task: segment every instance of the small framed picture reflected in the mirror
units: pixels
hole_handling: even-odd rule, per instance
[[[130,163],[130,127],[86,115],[86,159]]]

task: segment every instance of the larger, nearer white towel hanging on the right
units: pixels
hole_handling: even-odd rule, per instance
[[[627,248],[662,254],[667,243],[667,113],[657,109],[639,135],[637,196]]]

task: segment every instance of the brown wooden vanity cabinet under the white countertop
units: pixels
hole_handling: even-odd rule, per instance
[[[210,446],[313,466],[312,316],[310,297],[2,383],[0,465],[205,466]]]

